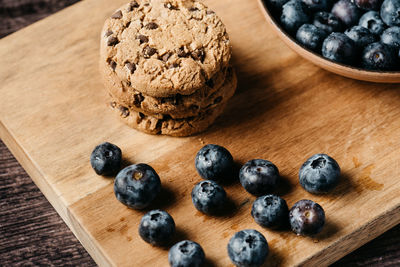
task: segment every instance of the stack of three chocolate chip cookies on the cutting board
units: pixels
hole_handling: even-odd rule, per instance
[[[205,130],[236,89],[225,26],[193,0],[136,0],[105,22],[100,71],[129,126],[188,136]]]

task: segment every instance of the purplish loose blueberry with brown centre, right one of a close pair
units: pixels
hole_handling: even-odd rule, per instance
[[[311,200],[296,202],[289,211],[290,226],[298,235],[315,235],[325,224],[324,209]]]

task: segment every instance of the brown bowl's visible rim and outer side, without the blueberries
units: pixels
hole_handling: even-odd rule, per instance
[[[263,0],[258,0],[262,12],[272,26],[274,32],[297,54],[327,71],[361,81],[377,83],[400,83],[400,71],[367,71],[360,68],[336,63],[299,45],[294,38],[287,34],[268,10]]]

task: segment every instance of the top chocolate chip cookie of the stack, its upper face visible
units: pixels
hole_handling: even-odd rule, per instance
[[[225,26],[193,0],[136,0],[104,24],[100,60],[144,94],[189,95],[228,66],[231,46]]]

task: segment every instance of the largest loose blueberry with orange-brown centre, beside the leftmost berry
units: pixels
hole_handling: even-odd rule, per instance
[[[133,209],[147,207],[160,191],[160,177],[147,164],[130,165],[121,170],[115,177],[115,196],[121,203]]]

